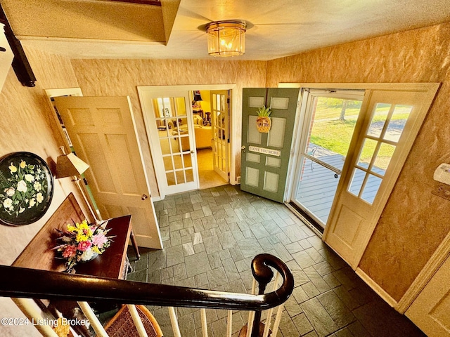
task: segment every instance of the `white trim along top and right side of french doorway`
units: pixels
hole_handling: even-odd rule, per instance
[[[160,92],[160,91],[194,91],[194,90],[231,90],[231,121],[230,123],[230,133],[231,135],[234,135],[236,133],[236,130],[239,128],[237,127],[237,122],[240,122],[240,119],[238,117],[238,106],[237,103],[237,86],[236,84],[186,84],[186,85],[180,85],[180,86],[138,86],[138,91],[146,91],[148,93],[153,92]],[[142,114],[146,114],[147,111],[144,109],[144,105],[142,103],[141,97],[139,97],[139,102],[141,104],[141,110]],[[191,106],[191,105],[190,105]],[[191,107],[191,114],[192,114],[192,107]],[[146,119],[146,117],[144,117]],[[240,127],[240,126],[239,126]],[[238,180],[236,177],[236,144],[240,147],[240,138],[236,136],[232,136],[230,138],[230,183],[231,185],[238,184]],[[148,139],[148,146],[151,148],[150,140]],[[153,157],[153,154],[152,154]],[[153,165],[154,166],[154,165]],[[158,175],[157,175],[158,176]],[[160,199],[165,199],[165,194],[162,194],[160,191]]]

